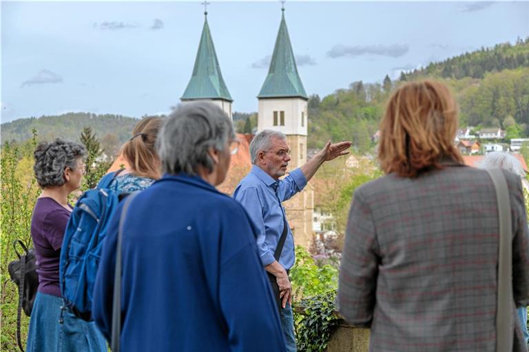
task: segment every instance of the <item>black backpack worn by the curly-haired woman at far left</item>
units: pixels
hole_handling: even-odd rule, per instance
[[[17,250],[17,244],[23,249],[22,254]],[[22,340],[20,338],[21,311],[26,316],[31,316],[37,289],[39,288],[39,274],[37,274],[37,257],[33,253],[33,248],[28,248],[19,239],[13,242],[14,252],[19,259],[12,261],[8,265],[8,272],[11,280],[19,287],[19,307],[17,308],[17,344],[24,352]]]

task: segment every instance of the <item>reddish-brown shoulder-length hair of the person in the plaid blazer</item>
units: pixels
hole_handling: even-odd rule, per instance
[[[406,83],[389,98],[380,125],[378,158],[386,173],[417,177],[442,168],[442,159],[463,163],[454,146],[457,103],[443,83]]]

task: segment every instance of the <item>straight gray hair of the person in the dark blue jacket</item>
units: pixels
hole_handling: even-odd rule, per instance
[[[224,151],[235,139],[228,115],[211,102],[180,104],[163,124],[156,144],[163,173],[197,175],[198,166],[213,171],[209,148]]]

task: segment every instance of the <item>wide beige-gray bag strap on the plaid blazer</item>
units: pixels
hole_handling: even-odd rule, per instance
[[[510,199],[503,171],[487,170],[494,187],[499,212],[498,296],[496,312],[496,351],[512,351],[514,333],[512,297],[512,230]]]

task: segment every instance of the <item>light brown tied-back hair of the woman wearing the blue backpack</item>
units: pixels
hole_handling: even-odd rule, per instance
[[[156,137],[162,126],[158,116],[143,118],[134,126],[132,138],[125,143],[121,153],[134,175],[159,179],[160,159],[156,153]]]

